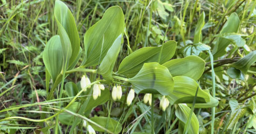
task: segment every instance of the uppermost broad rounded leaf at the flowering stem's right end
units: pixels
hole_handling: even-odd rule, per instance
[[[194,80],[198,80],[203,72],[205,62],[198,56],[188,56],[185,58],[172,59],[165,62],[163,66],[166,66],[172,76],[188,76]]]

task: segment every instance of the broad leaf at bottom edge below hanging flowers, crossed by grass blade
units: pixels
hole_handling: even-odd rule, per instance
[[[113,120],[112,118],[108,117],[92,117],[90,118],[93,122],[101,125],[103,128],[108,129],[109,131],[112,131],[113,133],[120,133],[122,131],[122,126],[119,122]],[[89,123],[89,122],[88,122]],[[99,126],[96,126],[92,123],[89,123],[95,131],[99,132],[105,132],[105,130],[99,128]]]

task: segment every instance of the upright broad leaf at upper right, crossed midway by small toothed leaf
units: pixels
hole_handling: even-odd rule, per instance
[[[225,25],[220,31],[220,34],[224,33],[236,33],[240,26],[240,20],[236,12],[231,13],[229,19],[227,19]],[[226,54],[225,48],[229,46],[231,41],[225,38],[218,38],[217,43],[213,47],[212,53],[214,57],[220,57]]]

